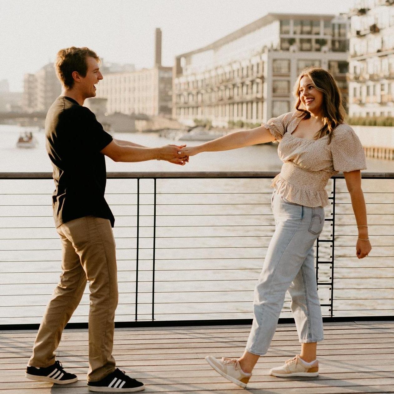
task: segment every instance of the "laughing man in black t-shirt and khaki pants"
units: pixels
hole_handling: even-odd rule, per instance
[[[183,165],[182,147],[147,148],[113,139],[95,115],[83,107],[95,97],[103,78],[99,58],[89,48],[66,48],[57,54],[56,73],[63,91],[48,110],[46,149],[56,189],[52,195],[56,230],[62,243],[62,273],[46,307],[33,355],[26,369],[32,380],[66,384],[77,381],[55,361],[63,328],[80,303],[89,281],[90,391],[134,392],[141,382],[115,368],[112,357],[114,316],[118,302],[114,217],[104,199],[104,155],[116,162],[167,160]]]

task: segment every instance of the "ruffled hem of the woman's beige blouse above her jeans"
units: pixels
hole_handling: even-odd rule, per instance
[[[328,204],[327,192],[323,190],[308,190],[289,184],[278,174],[271,183],[277,193],[291,203],[309,207],[326,206]]]

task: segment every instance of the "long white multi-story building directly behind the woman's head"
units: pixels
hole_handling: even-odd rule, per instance
[[[289,112],[292,87],[310,65],[331,70],[347,98],[348,18],[270,13],[175,58],[173,117],[192,124],[258,123]]]

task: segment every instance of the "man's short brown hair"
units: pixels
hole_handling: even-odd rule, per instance
[[[70,48],[59,50],[56,55],[55,69],[56,74],[64,87],[71,89],[74,85],[74,79],[72,78],[73,71],[77,71],[82,77],[86,76],[86,58],[88,56],[95,58],[96,61],[100,61],[96,52],[86,48],[86,46],[82,48],[71,46]]]

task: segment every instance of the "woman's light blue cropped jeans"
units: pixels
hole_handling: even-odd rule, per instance
[[[286,290],[301,343],[323,340],[313,245],[324,225],[324,208],[310,208],[273,192],[275,232],[255,288],[254,319],[246,350],[264,355],[281,313]]]

